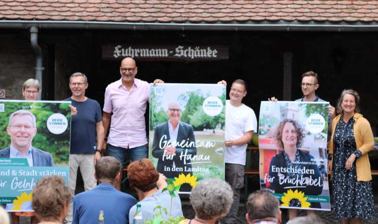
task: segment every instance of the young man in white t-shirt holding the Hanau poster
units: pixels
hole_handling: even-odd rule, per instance
[[[223,80],[218,84],[227,83]],[[257,119],[253,110],[242,103],[247,95],[247,83],[235,80],[230,91],[230,100],[226,100],[226,136],[225,136],[225,176],[234,193],[234,202],[225,217],[226,224],[233,224],[239,208],[240,189],[244,183],[247,142],[257,132]]]

